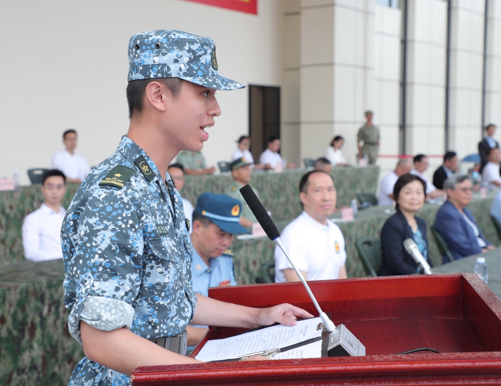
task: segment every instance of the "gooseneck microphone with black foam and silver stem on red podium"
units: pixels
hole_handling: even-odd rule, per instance
[[[258,220],[258,223],[261,225],[266,235],[270,238],[270,240],[272,240],[279,246],[287,260],[289,260],[289,263],[291,263],[294,271],[296,271],[296,274],[303,283],[306,292],[308,292],[308,295],[313,301],[313,304],[315,305],[320,318],[324,322],[325,328],[327,329],[327,331],[329,331],[329,342],[327,347],[329,356],[345,356],[347,354],[352,356],[365,355],[365,346],[360,343],[360,340],[358,340],[343,324],[340,324],[336,327],[332,320],[329,319],[327,314],[322,311],[317,299],[310,289],[310,286],[306,282],[304,276],[301,274],[301,271],[298,270],[294,262],[291,260],[291,257],[284,249],[284,246],[280,241],[279,230],[275,226],[273,220],[271,219],[261,201],[258,199],[258,196],[256,196],[252,187],[250,187],[249,184],[242,186],[240,188],[240,194],[242,195],[243,199],[249,206],[254,216],[256,216],[256,220]],[[346,344],[346,342],[348,342],[348,344]]]

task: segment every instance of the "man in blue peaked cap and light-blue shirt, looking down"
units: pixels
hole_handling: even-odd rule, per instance
[[[233,235],[247,233],[238,224],[240,203],[226,195],[202,193],[193,212],[193,257],[191,275],[196,293],[207,296],[210,287],[236,285],[233,253],[228,249]],[[196,345],[207,326],[188,325],[188,346]]]

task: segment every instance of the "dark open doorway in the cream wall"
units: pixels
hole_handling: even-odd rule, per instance
[[[280,137],[280,87],[249,85],[250,151],[256,163],[271,135]]]

